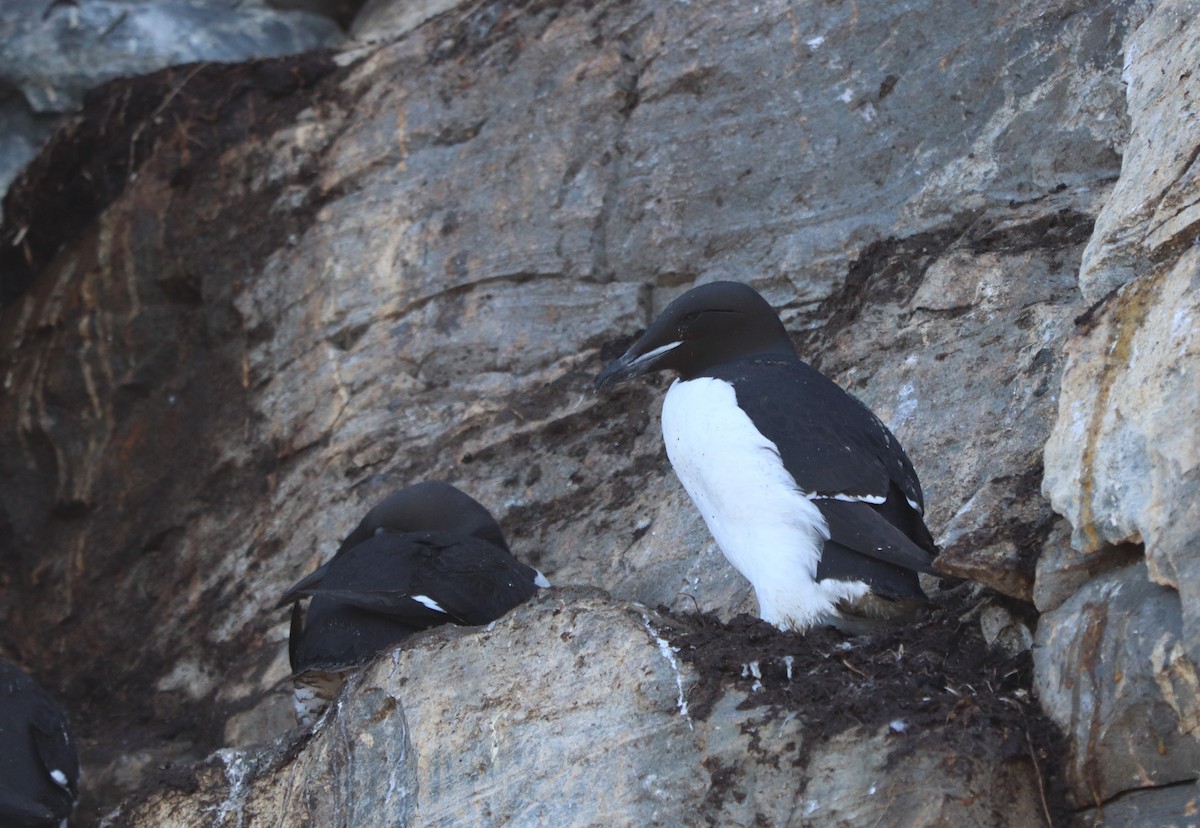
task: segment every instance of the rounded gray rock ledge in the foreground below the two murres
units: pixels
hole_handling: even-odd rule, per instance
[[[688,697],[700,679],[665,637],[670,623],[599,590],[546,590],[486,628],[422,634],[352,679],[306,743],[221,751],[199,768],[198,791],[163,791],[120,820],[367,827],[1040,820],[1032,769],[1001,761],[996,744],[967,756],[902,722],[816,742],[799,712],[760,707],[754,690],[731,689],[694,718]]]

